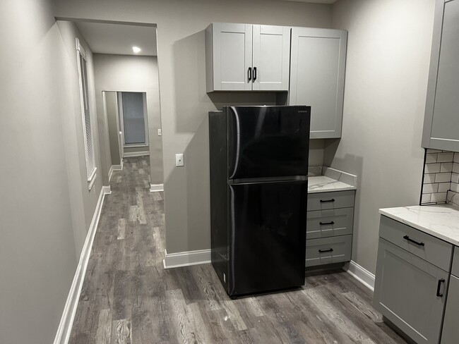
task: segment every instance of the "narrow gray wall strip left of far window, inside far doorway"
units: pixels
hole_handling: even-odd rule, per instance
[[[103,101],[104,97],[102,97]],[[118,104],[117,92],[105,92],[105,109],[107,110],[107,127],[110,147],[110,161],[111,165],[121,165],[120,152],[119,152],[119,137],[118,130]]]

